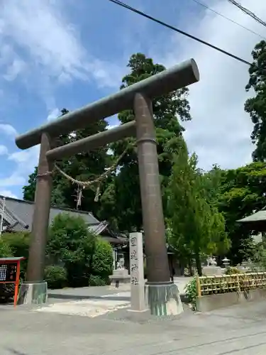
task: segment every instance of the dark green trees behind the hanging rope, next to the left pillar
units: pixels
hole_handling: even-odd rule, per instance
[[[68,112],[67,109],[62,109],[61,116],[64,116]],[[106,130],[106,121],[96,121],[93,124],[89,124],[86,129],[60,136],[56,143],[57,146],[62,146],[104,130]],[[86,181],[94,180],[104,173],[104,169],[106,166],[109,166],[110,162],[111,157],[107,154],[106,147],[99,150],[79,153],[70,158],[57,161],[56,163],[61,170],[67,173],[67,175],[70,175],[77,180]],[[35,168],[35,171],[29,176],[28,185],[23,187],[24,200],[34,201],[36,177],[37,168]],[[108,182],[108,179],[106,182]],[[104,184],[106,182],[104,182]],[[96,188],[94,188],[94,190],[83,190],[81,207],[84,211],[93,212],[97,215],[98,205],[94,202],[95,191]],[[73,185],[72,182],[66,180],[66,178],[55,170],[53,173],[52,204],[58,207],[75,209],[77,207],[77,200],[75,197],[77,197],[77,185]]]

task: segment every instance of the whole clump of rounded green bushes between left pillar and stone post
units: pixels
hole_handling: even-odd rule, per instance
[[[55,217],[50,226],[47,253],[53,264],[48,269],[51,284],[65,282],[63,268],[72,287],[109,283],[113,270],[111,244],[92,234],[82,217],[67,213]]]

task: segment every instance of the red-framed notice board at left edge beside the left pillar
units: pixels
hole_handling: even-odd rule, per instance
[[[25,258],[0,258],[0,283],[15,285],[14,307],[18,302],[19,275],[21,273],[21,260]]]

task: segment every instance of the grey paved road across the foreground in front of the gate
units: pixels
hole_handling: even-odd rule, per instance
[[[265,355],[266,304],[156,319],[126,309],[99,317],[1,306],[1,355]]]

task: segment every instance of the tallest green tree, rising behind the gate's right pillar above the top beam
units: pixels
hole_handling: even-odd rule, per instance
[[[153,62],[151,58],[141,53],[131,55],[128,61],[130,72],[123,77],[121,89],[146,79],[165,70],[165,67]],[[179,124],[181,121],[191,119],[189,114],[189,102],[187,100],[188,89],[179,89],[170,94],[153,100],[153,115],[157,133],[157,152],[162,182],[163,203],[166,205],[165,187],[172,168],[173,153],[179,150],[179,137],[184,130]],[[124,124],[133,120],[132,110],[118,114],[119,121]],[[111,148],[114,157],[118,157],[132,141],[127,139],[113,143]],[[142,213],[140,204],[140,187],[138,178],[138,161],[135,148],[128,149],[128,153],[121,160],[121,165],[113,178],[112,187],[104,192],[101,201],[113,201],[113,215],[116,215],[114,224],[123,231],[140,230],[142,227]],[[105,206],[101,215],[107,217]]]

